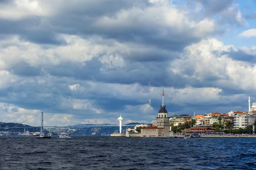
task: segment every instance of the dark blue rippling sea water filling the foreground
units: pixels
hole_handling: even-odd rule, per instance
[[[256,138],[0,137],[0,170],[256,170]]]

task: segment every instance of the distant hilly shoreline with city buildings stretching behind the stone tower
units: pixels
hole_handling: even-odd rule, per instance
[[[163,91],[164,92],[164,91]],[[163,93],[164,97],[164,93]],[[256,125],[256,102],[250,104],[249,111],[231,111],[229,113],[209,113],[204,115],[173,115],[168,117],[164,102],[159,110],[157,119],[152,121],[152,124],[130,123],[127,125],[135,125],[134,128],[128,128],[130,133],[141,133],[141,129],[154,130],[149,127],[166,127],[169,126],[169,131],[175,133],[191,132],[191,133],[206,133],[206,132],[225,132],[237,134],[254,134],[254,126]],[[160,121],[166,121],[161,125]],[[158,120],[158,122],[157,122]],[[130,127],[130,126],[129,126]],[[167,128],[167,127],[166,127]],[[113,132],[118,132],[118,126],[91,126],[91,127],[54,127],[44,128],[44,132],[58,135],[61,132],[69,131],[70,135],[110,135]],[[39,132],[40,127],[31,127],[18,123],[0,122],[0,135],[33,135]],[[122,129],[125,132],[125,128]],[[153,132],[153,131],[152,131]],[[151,132],[150,132],[151,133]],[[167,132],[165,132],[167,134]],[[152,135],[152,134],[151,134]],[[146,135],[145,135],[146,136]]]

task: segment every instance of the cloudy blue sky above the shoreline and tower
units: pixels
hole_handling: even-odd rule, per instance
[[[163,88],[168,116],[248,111],[256,1],[0,0],[0,122],[148,123]]]

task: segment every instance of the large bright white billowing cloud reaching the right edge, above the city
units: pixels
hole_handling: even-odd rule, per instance
[[[186,53],[173,61],[170,69],[180,77],[209,82],[213,87],[256,88],[256,65],[232,60],[231,51],[238,50],[216,39],[202,40],[186,47]],[[255,49],[247,51],[255,55]]]

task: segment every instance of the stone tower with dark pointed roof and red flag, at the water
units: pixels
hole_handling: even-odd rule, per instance
[[[163,102],[157,115],[157,126],[148,126],[141,128],[141,137],[170,137],[170,124],[168,112],[164,105],[164,89],[163,89]]]

